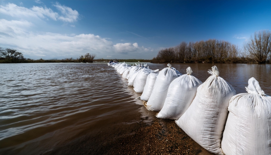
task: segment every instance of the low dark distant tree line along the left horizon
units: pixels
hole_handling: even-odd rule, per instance
[[[17,52],[16,49],[3,49],[0,47],[0,63],[40,63],[40,62],[93,62],[96,54],[87,53],[85,55],[81,55],[79,58],[65,58],[61,60],[44,60],[44,59],[26,59],[21,52]]]

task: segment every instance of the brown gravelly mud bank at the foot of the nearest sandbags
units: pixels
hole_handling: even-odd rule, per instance
[[[213,155],[200,147],[173,120],[153,117],[150,125],[139,126],[109,139],[102,135],[81,137],[70,144],[43,153],[51,154],[188,154]]]

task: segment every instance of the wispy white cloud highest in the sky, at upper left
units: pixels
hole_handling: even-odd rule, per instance
[[[55,3],[53,6],[60,11],[60,14],[46,6],[33,6],[29,9],[23,6],[17,6],[13,3],[0,5],[0,13],[10,15],[11,17],[36,17],[40,19],[51,18],[54,21],[60,20],[70,23],[77,21],[79,13],[76,10],[72,10],[70,7],[60,5],[59,3]]]

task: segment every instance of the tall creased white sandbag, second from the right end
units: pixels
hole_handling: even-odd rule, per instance
[[[236,92],[228,82],[218,76],[216,66],[208,72],[212,75],[197,88],[195,99],[175,122],[200,146],[222,155],[220,143],[228,116],[228,104]]]

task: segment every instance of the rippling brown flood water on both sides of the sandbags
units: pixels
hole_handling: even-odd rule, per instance
[[[271,95],[270,64],[172,63],[182,74],[190,66],[202,82],[213,65],[237,93],[245,93],[254,77]],[[127,83],[106,63],[0,64],[0,154],[41,154],[82,139],[92,141],[87,147],[94,154],[115,137],[151,124],[154,113]]]

